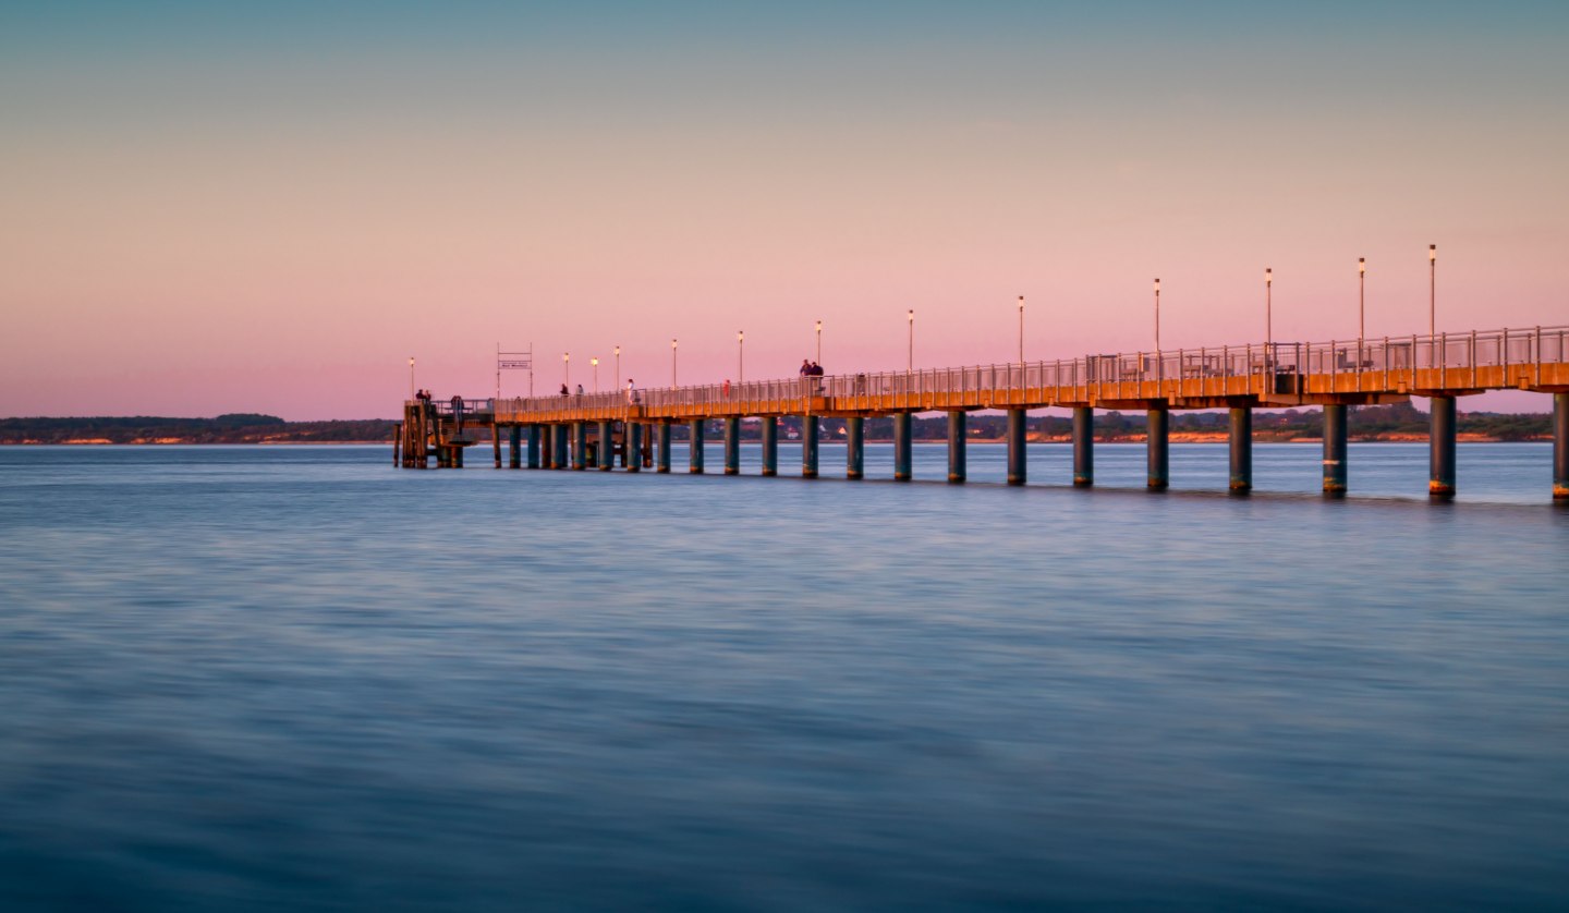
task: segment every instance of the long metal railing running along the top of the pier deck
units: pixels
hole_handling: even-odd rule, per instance
[[[494,405],[508,416],[530,416],[570,409],[613,413],[626,406],[654,411],[781,411],[805,409],[817,397],[830,397],[838,408],[874,408],[886,397],[979,395],[982,402],[1006,405],[1025,402],[1028,394],[1047,389],[1078,389],[1090,384],[1125,386],[1138,395],[1139,384],[1252,378],[1257,389],[1301,389],[1309,375],[1373,375],[1378,387],[1409,378],[1415,386],[1418,370],[1472,372],[1478,367],[1539,366],[1569,362],[1569,326],[1530,329],[1491,329],[1440,333],[1437,336],[1385,336],[1331,342],[1271,342],[1169,351],[1087,355],[1076,359],[987,364],[970,367],[919,369],[912,372],[866,372],[854,375],[802,376],[747,383],[648,387],[565,397],[519,397],[505,400],[464,400]],[[1268,378],[1274,378],[1272,381]],[[1287,378],[1294,378],[1288,381]],[[1464,384],[1464,375],[1448,378]],[[1360,389],[1360,387],[1359,387]],[[441,403],[438,403],[439,409]],[[446,409],[450,413],[450,405]]]

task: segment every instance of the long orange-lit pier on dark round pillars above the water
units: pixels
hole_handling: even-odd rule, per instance
[[[819,475],[817,419],[846,420],[846,478],[865,472],[865,420],[891,417],[894,478],[913,478],[912,417],[948,414],[948,480],[962,483],[965,416],[1007,414],[1007,483],[1028,478],[1025,416],[1065,408],[1073,414],[1072,485],[1094,486],[1095,409],[1142,409],[1149,417],[1147,486],[1169,483],[1169,416],[1174,409],[1229,409],[1233,493],[1252,489],[1252,411],[1323,406],[1324,494],[1349,491],[1349,406],[1431,400],[1428,494],[1456,494],[1456,402],[1484,391],[1519,389],[1553,398],[1552,497],[1569,502],[1569,328],[1494,329],[1332,342],[1266,342],[1087,355],[905,372],[839,373],[772,381],[648,387],[601,394],[449,402],[410,400],[394,442],[394,464],[461,467],[463,452],[490,431],[494,464],[513,469],[670,472],[675,424],[690,428],[687,471],[706,472],[709,422],[723,425],[723,472],[741,471],[742,419],[763,422],[763,475],[778,471],[778,419],[800,416],[802,475]],[[524,444],[526,442],[526,444]],[[526,458],[524,458],[526,453]]]

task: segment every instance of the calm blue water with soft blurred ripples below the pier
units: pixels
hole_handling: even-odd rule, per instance
[[[1569,900],[1547,447],[488,458],[0,449],[0,910]]]

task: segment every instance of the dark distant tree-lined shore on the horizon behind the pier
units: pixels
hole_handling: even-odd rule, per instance
[[[278,416],[232,413],[213,419],[169,419],[154,416],[113,417],[31,417],[0,419],[0,444],[345,444],[391,442],[395,422],[391,419],[356,419],[333,422],[286,422]],[[828,436],[838,438],[839,419],[824,419]],[[781,420],[783,435],[800,433],[800,417]],[[1175,435],[1224,435],[1225,413],[1174,413]],[[967,427],[971,438],[1003,438],[1006,417],[971,414]],[[1029,433],[1040,439],[1065,439],[1073,430],[1065,416],[1034,416]],[[1254,435],[1261,441],[1293,441],[1320,438],[1324,430],[1320,409],[1255,411]],[[715,422],[712,435],[722,431]],[[1103,441],[1136,439],[1145,431],[1144,413],[1097,413],[1095,436]],[[1411,403],[1392,406],[1357,406],[1351,409],[1348,431],[1352,439],[1406,439],[1428,433],[1426,413]],[[1552,436],[1552,416],[1511,413],[1461,413],[1459,433],[1473,439],[1539,441]],[[678,439],[686,438],[686,425],[675,427]],[[742,438],[756,439],[756,424],[742,425]],[[893,438],[893,419],[866,420],[871,439]],[[941,441],[948,438],[946,416],[921,416],[915,420],[915,438]]]

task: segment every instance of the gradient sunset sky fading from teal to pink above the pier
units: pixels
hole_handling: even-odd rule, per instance
[[[0,416],[1569,325],[1569,3],[0,0]],[[621,347],[621,372],[613,347]],[[527,392],[526,373],[502,378]],[[1545,411],[1541,394],[1464,408]]]

